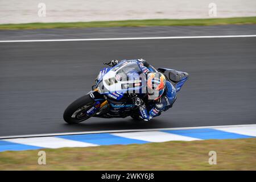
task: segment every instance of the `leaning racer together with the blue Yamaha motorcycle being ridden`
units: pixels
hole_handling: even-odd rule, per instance
[[[170,68],[157,70],[143,59],[105,63],[92,90],[73,101],[63,119],[76,124],[91,117],[150,121],[172,107],[189,74]]]

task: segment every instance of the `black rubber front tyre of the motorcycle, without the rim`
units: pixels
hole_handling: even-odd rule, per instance
[[[90,97],[90,95],[85,95],[82,96],[80,98],[78,98],[77,100],[75,100],[74,102],[72,102],[67,109],[65,109],[64,113],[63,113],[63,119],[65,122],[69,123],[69,124],[76,124],[76,123],[80,123],[82,121],[85,121],[86,119],[89,119],[91,116],[85,117],[85,118],[77,118],[77,117],[72,117],[72,115],[79,110],[81,107],[84,106],[93,106],[94,104],[94,100]]]

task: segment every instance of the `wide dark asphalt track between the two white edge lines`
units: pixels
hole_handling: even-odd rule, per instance
[[[0,136],[256,123],[256,38],[0,43]],[[190,79],[174,107],[150,122],[63,121],[112,59],[146,59]]]

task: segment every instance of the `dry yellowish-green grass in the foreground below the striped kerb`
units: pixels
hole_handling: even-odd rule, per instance
[[[43,150],[46,165],[39,150],[0,152],[0,170],[256,170],[256,138]]]

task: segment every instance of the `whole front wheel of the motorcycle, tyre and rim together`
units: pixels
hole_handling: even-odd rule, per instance
[[[78,98],[65,109],[64,121],[69,124],[76,124],[89,119],[92,115],[88,115],[86,111],[92,108],[94,102],[89,94]]]

